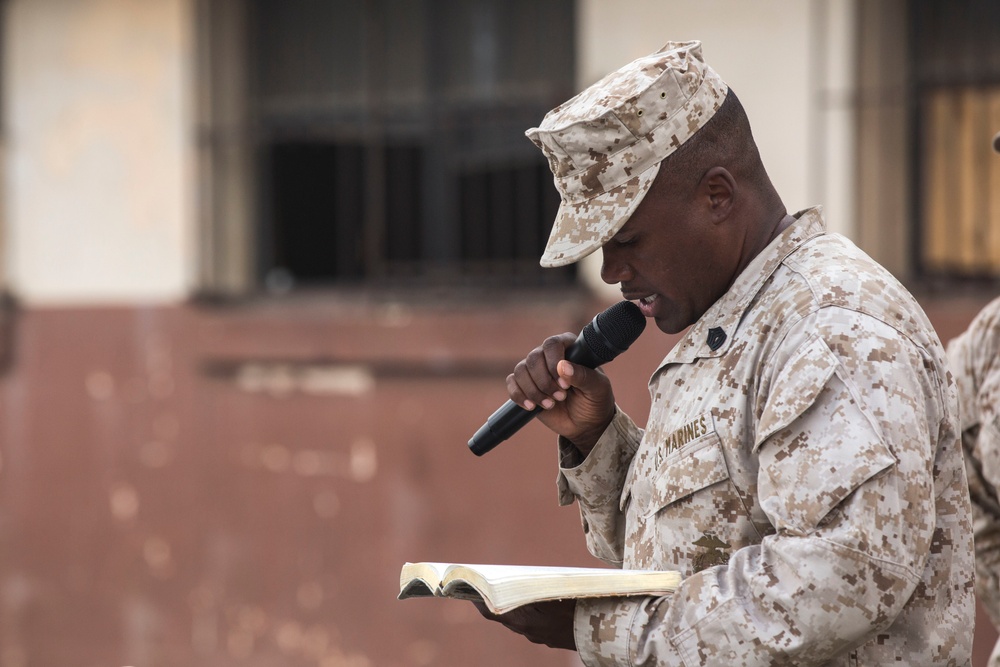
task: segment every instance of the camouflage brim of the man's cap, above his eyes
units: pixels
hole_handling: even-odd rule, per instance
[[[660,163],[586,201],[563,201],[539,263],[546,268],[578,262],[618,233],[649,192]]]

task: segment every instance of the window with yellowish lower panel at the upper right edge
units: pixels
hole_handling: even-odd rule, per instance
[[[1000,3],[920,0],[913,18],[916,235],[924,277],[1000,277]]]

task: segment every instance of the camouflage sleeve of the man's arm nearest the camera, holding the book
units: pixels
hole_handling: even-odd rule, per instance
[[[792,337],[762,379],[757,496],[775,533],[670,596],[579,603],[586,665],[822,664],[893,624],[932,542],[962,542],[935,535],[935,503],[965,493],[964,476],[934,491],[939,424],[955,404],[940,408],[954,396],[922,350],[857,325]]]

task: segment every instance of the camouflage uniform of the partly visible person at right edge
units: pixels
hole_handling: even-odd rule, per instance
[[[991,301],[964,333],[948,344],[958,387],[976,541],[976,592],[1000,625],[1000,298]],[[991,667],[1000,667],[1000,642]]]

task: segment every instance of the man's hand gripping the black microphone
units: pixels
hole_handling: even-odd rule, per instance
[[[611,423],[615,397],[602,371],[566,361],[574,341],[572,333],[546,338],[507,376],[507,392],[526,410],[540,405],[538,420],[586,455]]]

